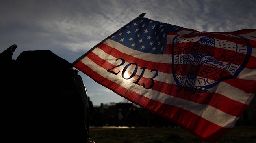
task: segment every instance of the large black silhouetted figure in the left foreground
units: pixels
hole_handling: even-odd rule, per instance
[[[87,143],[89,107],[82,78],[50,50],[0,53],[1,141]]]

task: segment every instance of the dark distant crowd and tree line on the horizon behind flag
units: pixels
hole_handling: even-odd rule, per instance
[[[100,107],[90,107],[90,126],[177,127],[170,120],[136,107],[132,103],[117,103],[104,108],[104,112],[101,112],[104,107],[103,103]],[[236,122],[236,126],[253,125],[256,125],[256,118],[255,116],[249,117],[247,110]]]

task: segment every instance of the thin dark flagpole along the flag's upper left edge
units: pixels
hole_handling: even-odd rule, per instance
[[[135,19],[133,19],[132,21],[138,19],[138,18],[141,18],[141,17],[144,17],[146,13],[141,13],[139,15],[139,17],[136,17]],[[130,21],[129,23],[127,23],[126,25],[124,25],[123,27],[121,27],[120,29],[126,27],[127,25],[129,25],[132,21]],[[118,32],[120,29],[118,29],[116,32]],[[104,43],[107,39],[109,39],[111,36],[113,36],[116,32],[114,32],[113,34],[111,34],[110,36],[108,36],[107,38],[105,38],[104,40],[102,40],[100,43],[98,43],[96,46],[94,46],[93,48],[91,48],[90,50],[88,50],[85,54],[83,54],[81,57],[79,57],[78,59],[76,59],[76,61],[74,61],[72,63],[72,66],[74,67],[74,65],[80,61],[82,58],[84,58],[89,52],[91,52],[92,50],[94,50],[95,48],[97,48],[100,44]]]

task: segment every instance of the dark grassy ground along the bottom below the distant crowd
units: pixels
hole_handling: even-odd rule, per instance
[[[208,143],[182,128],[91,128],[95,143]],[[216,143],[256,143],[256,126],[235,127]]]

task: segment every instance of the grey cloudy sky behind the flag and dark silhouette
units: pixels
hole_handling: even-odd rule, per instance
[[[223,32],[256,29],[255,0],[0,0],[0,53],[12,44],[51,50],[70,63],[126,23],[144,17]],[[94,105],[124,101],[79,72]]]

